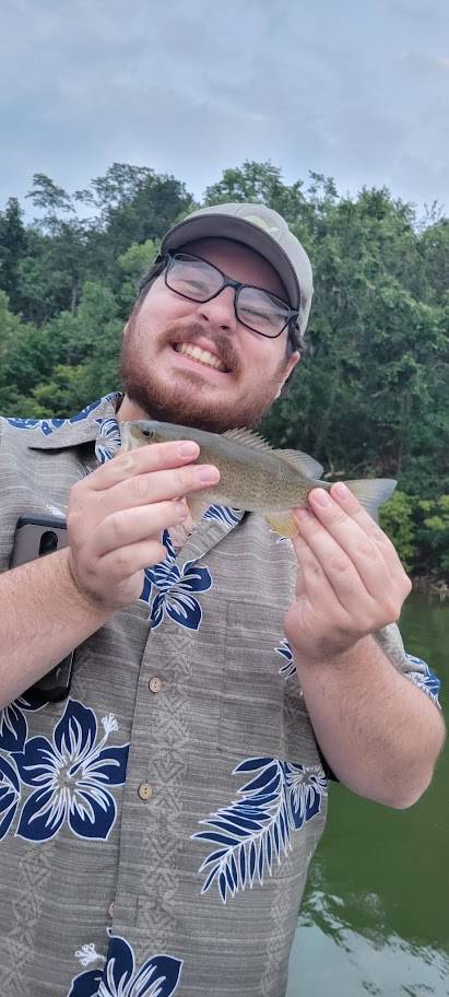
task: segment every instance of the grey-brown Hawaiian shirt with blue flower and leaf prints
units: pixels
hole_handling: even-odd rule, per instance
[[[120,446],[119,395],[0,421],[0,568]],[[74,654],[63,702],[0,711],[4,997],[282,997],[328,777],[283,632],[296,559],[211,506]],[[26,613],[27,607],[23,606]],[[436,699],[437,679],[377,635]]]

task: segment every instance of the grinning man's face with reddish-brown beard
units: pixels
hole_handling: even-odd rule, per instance
[[[229,239],[199,239],[182,251],[201,256],[228,277],[286,300],[267,260]],[[170,291],[161,274],[123,335],[120,420],[152,418],[223,433],[255,425],[277,397],[298,360],[287,359],[287,330],[268,339],[241,325],[233,288],[205,303]],[[187,347],[186,347],[187,344]],[[199,347],[201,359],[184,350]],[[208,363],[208,354],[220,368]]]

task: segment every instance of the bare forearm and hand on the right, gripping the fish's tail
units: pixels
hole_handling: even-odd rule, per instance
[[[326,501],[328,498],[328,501]],[[330,498],[330,501],[329,501]],[[340,484],[297,511],[296,600],[285,633],[320,749],[355,793],[409,807],[428,786],[441,715],[371,636],[411,589],[393,546]]]

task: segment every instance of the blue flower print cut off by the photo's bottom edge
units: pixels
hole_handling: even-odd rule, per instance
[[[68,997],[170,997],[180,977],[182,960],[153,955],[135,970],[134,952],[114,935],[103,970],[88,970],[72,980]]]

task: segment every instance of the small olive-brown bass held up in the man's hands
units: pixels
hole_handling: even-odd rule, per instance
[[[300,450],[277,449],[248,429],[209,433],[192,426],[156,420],[120,423],[121,453],[154,443],[193,439],[200,447],[197,464],[213,464],[220,481],[200,493],[186,495],[193,523],[210,505],[225,505],[264,516],[281,537],[293,538],[298,529],[294,508],[305,507],[315,488],[330,491],[321,480],[322,466]],[[344,482],[377,521],[377,509],[394,491],[392,478],[363,478]]]

